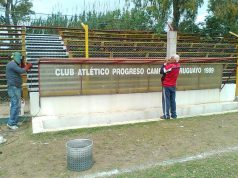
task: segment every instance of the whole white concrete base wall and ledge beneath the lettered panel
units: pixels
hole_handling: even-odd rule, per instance
[[[234,93],[232,84],[222,90],[177,91],[177,114],[191,117],[238,111]],[[33,133],[159,120],[161,96],[152,92],[39,98],[39,93],[32,92]]]

